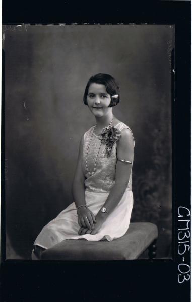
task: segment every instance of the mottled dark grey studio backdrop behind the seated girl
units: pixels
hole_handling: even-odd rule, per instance
[[[87,81],[120,85],[114,115],[136,146],[132,222],[153,222],[157,257],[171,258],[170,25],[3,26],[6,256],[30,259],[42,227],[72,200],[82,134],[95,124]]]

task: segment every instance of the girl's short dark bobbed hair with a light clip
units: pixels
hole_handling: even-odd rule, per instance
[[[120,101],[119,85],[118,85],[117,81],[115,80],[115,78],[113,78],[109,74],[98,73],[98,74],[92,75],[92,77],[89,79],[89,81],[86,85],[85,92],[84,92],[84,97],[83,97],[83,102],[84,102],[85,105],[88,105],[87,104],[87,95],[88,95],[89,86],[92,83],[105,85],[106,91],[110,96],[118,95],[117,98],[111,98],[111,102],[109,104],[109,107],[116,106],[119,103],[119,101]]]

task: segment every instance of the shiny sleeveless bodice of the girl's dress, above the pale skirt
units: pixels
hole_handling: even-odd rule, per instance
[[[100,146],[100,139],[95,133],[93,134],[89,152],[87,156],[88,169],[90,172],[94,169],[94,159],[97,157],[97,166],[96,171],[93,175],[89,175],[86,169],[86,152],[88,149],[88,143],[90,141],[91,135],[93,133],[93,128],[91,127],[84,134],[84,145],[83,145],[83,173],[85,175],[85,188],[91,192],[102,192],[109,193],[115,183],[115,168],[117,162],[117,144],[114,143],[111,151],[111,155],[109,158],[106,157],[106,145],[101,144],[101,148],[99,150],[99,154],[97,157],[97,152]],[[130,129],[126,124],[120,122],[115,128],[119,131],[122,131],[124,128]],[[131,129],[130,129],[131,130]],[[133,135],[133,134],[132,134]],[[133,138],[134,139],[134,138]],[[134,141],[135,145],[135,141]],[[133,164],[132,164],[133,165]],[[132,191],[132,169],[130,173],[129,183],[127,185],[127,189]]]

